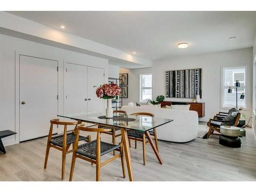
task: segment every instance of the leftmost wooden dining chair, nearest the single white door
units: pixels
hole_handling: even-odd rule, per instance
[[[75,135],[76,132],[67,133],[67,126],[68,125],[77,126],[77,122],[68,122],[68,121],[60,121],[59,119],[51,119],[50,123],[51,123],[51,126],[50,126],[50,131],[49,131],[48,140],[47,140],[44,168],[47,167],[47,161],[48,161],[50,148],[53,147],[53,148],[56,148],[57,150],[61,151],[62,152],[61,180],[63,180],[65,178],[66,155],[69,153],[72,153],[72,150],[70,150],[70,151],[68,151],[68,150],[69,150],[70,145],[75,142],[75,138],[76,138],[76,135]],[[54,124],[55,125],[64,125],[64,132],[62,135],[52,137],[52,131],[53,131]],[[84,140],[84,141],[89,142],[89,141],[91,141],[91,136],[90,135],[88,135],[87,137],[79,136],[78,140],[79,141]]]

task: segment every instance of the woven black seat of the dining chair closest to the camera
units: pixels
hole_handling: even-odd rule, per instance
[[[78,146],[76,153],[84,157],[96,160],[96,145],[97,140],[84,143]],[[110,153],[117,148],[120,148],[120,145],[114,145],[111,143],[100,141],[100,156]]]

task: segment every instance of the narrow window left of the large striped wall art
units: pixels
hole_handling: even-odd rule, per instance
[[[140,102],[152,99],[152,74],[140,74]]]

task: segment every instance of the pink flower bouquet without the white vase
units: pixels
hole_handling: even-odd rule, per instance
[[[117,84],[102,84],[100,87],[96,89],[96,95],[98,98],[102,99],[113,99],[116,96],[120,95],[120,88]]]

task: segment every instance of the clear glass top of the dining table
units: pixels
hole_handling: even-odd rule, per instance
[[[158,126],[172,122],[173,119],[156,118],[149,116],[135,116],[124,115],[121,113],[114,113],[113,118],[105,118],[103,113],[97,112],[82,112],[73,114],[57,115],[59,117],[70,118],[74,120],[81,120],[83,122],[109,125],[114,127],[126,128],[137,131],[148,131]]]

